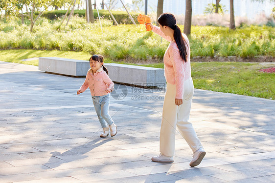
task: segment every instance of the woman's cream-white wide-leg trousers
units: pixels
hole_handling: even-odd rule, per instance
[[[167,82],[160,128],[160,153],[165,156],[175,155],[176,126],[193,153],[203,147],[192,123],[188,122],[193,94],[194,85],[190,77],[184,81],[183,104],[177,106],[175,104],[176,85]]]

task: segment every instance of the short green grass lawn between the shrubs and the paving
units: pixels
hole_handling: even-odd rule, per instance
[[[21,61],[33,57],[89,60],[91,55],[83,52],[57,50],[0,50],[0,61],[38,65],[38,60]],[[113,61],[106,59],[105,62]],[[164,68],[163,63],[141,66]],[[256,62],[191,62],[195,88],[275,100],[275,73],[259,72],[260,69],[269,67],[275,67],[275,64]]]

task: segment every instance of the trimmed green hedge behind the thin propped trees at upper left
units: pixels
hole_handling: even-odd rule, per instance
[[[109,13],[108,10],[98,10],[99,11],[99,16],[100,18],[103,19],[109,19],[113,20],[111,17],[111,14]],[[62,18],[66,14],[67,10],[53,10],[53,11],[46,11],[43,13],[42,17],[45,17],[49,20],[56,20],[57,18]],[[132,20],[129,18],[128,13],[125,11],[111,11],[113,16],[115,17],[115,20],[117,23],[122,23],[122,24],[133,24]],[[70,11],[69,11],[70,13]],[[68,16],[69,16],[68,13]],[[74,15],[79,16],[79,17],[85,17],[86,10],[74,10]],[[36,12],[36,15],[38,13]],[[93,16],[94,19],[98,19],[97,11],[93,10]],[[135,20],[136,23],[138,23],[138,13],[131,13],[131,16]],[[115,24],[115,22],[114,22]]]

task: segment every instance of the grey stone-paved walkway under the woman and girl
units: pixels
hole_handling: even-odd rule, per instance
[[[196,89],[190,121],[207,153],[192,168],[178,132],[175,162],[151,162],[163,89],[115,84],[118,133],[102,139],[83,81],[0,62],[0,183],[275,182],[275,101]]]

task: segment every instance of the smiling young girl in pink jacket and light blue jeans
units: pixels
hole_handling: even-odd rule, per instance
[[[92,102],[98,120],[103,128],[100,137],[109,135],[109,127],[111,137],[117,133],[117,126],[109,115],[110,92],[114,90],[114,82],[108,76],[108,70],[103,65],[104,58],[101,55],[92,55],[90,58],[90,67],[86,79],[77,91],[77,95],[83,93],[88,87],[91,90]],[[108,125],[107,125],[108,123]]]

